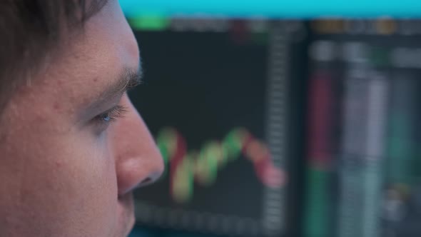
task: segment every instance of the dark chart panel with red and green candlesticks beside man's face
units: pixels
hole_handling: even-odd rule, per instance
[[[271,126],[270,111],[284,109],[269,103],[279,93],[269,91],[268,44],[230,32],[135,33],[145,83],[129,96],[165,163],[154,185],[134,192],[138,223],[263,233],[285,212],[290,183],[288,145],[278,145],[286,133]]]

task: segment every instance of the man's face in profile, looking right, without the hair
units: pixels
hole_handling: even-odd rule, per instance
[[[138,55],[109,1],[11,97],[0,121],[0,236],[128,234],[131,191],[163,171],[124,88]]]

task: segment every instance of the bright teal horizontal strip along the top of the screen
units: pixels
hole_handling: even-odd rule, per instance
[[[228,18],[421,16],[421,0],[120,0],[128,17]]]

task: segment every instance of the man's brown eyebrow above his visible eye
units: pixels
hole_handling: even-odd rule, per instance
[[[138,70],[133,69],[123,69],[120,76],[113,83],[108,84],[102,92],[100,92],[98,99],[96,101],[106,101],[108,99],[115,98],[116,96],[121,96],[124,92],[129,89],[133,89],[142,83],[142,71],[141,67]]]

